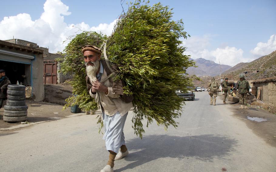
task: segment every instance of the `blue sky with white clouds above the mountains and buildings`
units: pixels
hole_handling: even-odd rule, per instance
[[[99,3],[100,2],[100,3]],[[127,9],[126,2],[123,6]],[[150,1],[173,8],[173,20],[183,19],[186,54],[225,65],[252,61],[276,50],[276,1]],[[119,0],[1,1],[0,39],[24,39],[62,51],[66,36],[83,30],[109,35],[122,12]],[[13,16],[13,17],[12,17]],[[5,17],[5,18],[4,18]]]

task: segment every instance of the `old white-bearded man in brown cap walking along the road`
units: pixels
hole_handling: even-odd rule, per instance
[[[123,94],[123,81],[113,82],[112,73],[101,60],[101,50],[93,45],[82,47],[86,65],[86,85],[91,97],[96,98],[102,110],[106,150],[109,160],[101,172],[113,172],[114,160],[122,159],[128,154],[123,127],[128,111],[132,107],[132,96]],[[120,151],[119,151],[120,149]]]

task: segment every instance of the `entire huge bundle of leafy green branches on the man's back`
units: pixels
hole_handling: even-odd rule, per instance
[[[85,66],[80,48],[84,45],[100,47],[106,40],[106,52],[111,65],[116,65],[114,80],[126,82],[124,92],[133,94],[133,129],[142,138],[146,127],[156,121],[158,125],[177,127],[175,121],[181,115],[183,98],[176,90],[187,91],[193,85],[193,77],[186,73],[194,66],[189,56],[184,55],[180,38],[187,38],[183,22],[172,20],[172,9],[157,3],[137,1],[130,4],[126,13],[117,20],[110,37],[95,32],[83,32],[65,48],[62,72],[72,70],[75,75],[71,84],[76,97],[68,98],[68,104],[79,104],[80,108],[96,109],[96,104],[86,91]],[[99,118],[98,123],[102,123]]]

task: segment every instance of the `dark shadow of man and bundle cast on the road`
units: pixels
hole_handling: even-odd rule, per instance
[[[212,162],[214,158],[225,159],[231,151],[235,151],[237,140],[221,135],[200,136],[169,136],[150,135],[141,140],[135,138],[126,142],[131,152],[124,159],[130,164],[116,169],[116,172],[133,169],[159,158],[178,158],[180,160],[193,157],[203,161]]]

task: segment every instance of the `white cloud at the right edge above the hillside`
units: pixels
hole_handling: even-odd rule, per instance
[[[275,50],[276,50],[276,35],[271,35],[267,43],[263,43],[263,42],[257,43],[257,46],[250,52],[255,57],[261,57],[264,55],[268,55]]]

